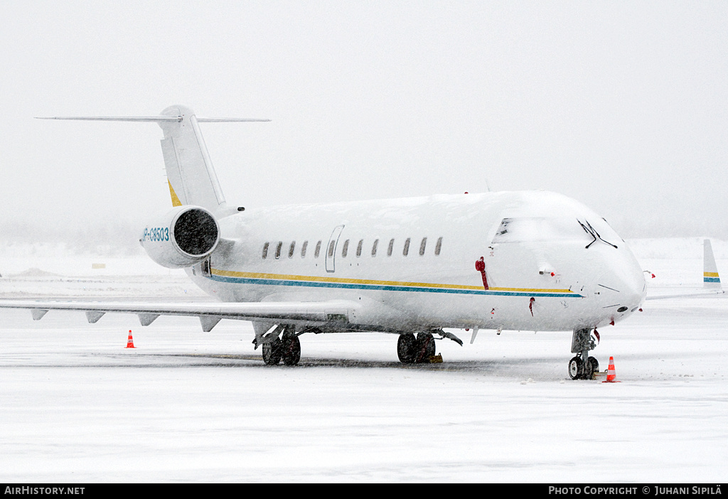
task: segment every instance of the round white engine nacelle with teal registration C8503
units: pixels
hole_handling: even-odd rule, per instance
[[[144,228],[141,243],[149,257],[167,268],[186,268],[205,260],[220,241],[220,226],[207,209],[175,207]]]

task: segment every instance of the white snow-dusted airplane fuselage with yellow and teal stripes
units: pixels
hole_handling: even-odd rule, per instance
[[[625,242],[555,193],[288,205],[219,223],[226,241],[188,269],[203,290],[230,302],[347,300],[357,311],[343,329],[593,328],[645,296]]]

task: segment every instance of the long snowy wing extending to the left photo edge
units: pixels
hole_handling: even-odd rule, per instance
[[[89,322],[97,322],[107,312],[137,314],[139,322],[148,326],[157,317],[197,316],[202,330],[210,331],[221,319],[243,321],[290,322],[303,326],[336,325],[347,329],[359,306],[346,300],[320,302],[262,302],[262,303],[138,303],[0,300],[0,308],[26,308],[33,320],[40,320],[50,310],[84,311]]]

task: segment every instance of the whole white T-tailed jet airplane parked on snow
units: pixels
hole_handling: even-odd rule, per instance
[[[141,246],[183,268],[216,303],[28,302],[39,320],[77,310],[89,322],[109,312],[197,316],[253,323],[265,364],[298,364],[304,333],[398,335],[404,364],[430,362],[435,339],[453,332],[571,331],[568,372],[590,379],[597,328],[616,324],[646,298],[644,271],[603,217],[547,191],[442,194],[405,199],[238,207],[226,203],[199,123],[183,105],[160,116],[54,117],[150,121],[162,128],[173,208],[150,217]],[[717,271],[716,271],[717,272]],[[716,274],[717,276],[717,274]],[[438,337],[438,338],[435,338]]]

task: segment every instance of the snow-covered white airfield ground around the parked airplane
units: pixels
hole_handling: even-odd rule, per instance
[[[651,292],[700,287],[702,239],[628,241]],[[194,298],[143,256],[0,248],[0,298]],[[728,245],[713,240],[728,276]],[[105,268],[92,268],[104,263]],[[569,380],[571,332],[481,331],[404,366],[397,338],[304,335],[266,367],[247,322],[0,312],[4,482],[721,482],[728,298],[646,302],[600,330],[617,380]],[[132,330],[136,348],[124,348]]]

